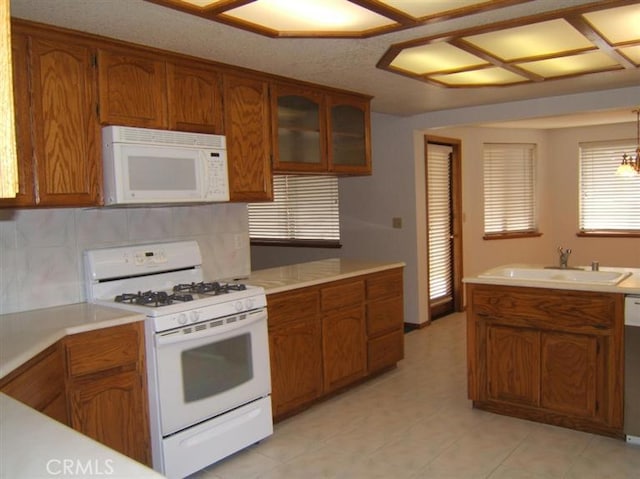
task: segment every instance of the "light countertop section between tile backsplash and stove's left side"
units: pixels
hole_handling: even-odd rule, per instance
[[[65,336],[144,320],[89,303],[0,315],[0,378]]]

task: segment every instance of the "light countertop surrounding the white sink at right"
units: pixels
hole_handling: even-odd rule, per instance
[[[487,272],[498,269],[508,268],[536,268],[544,269],[541,265],[532,264],[507,264],[491,268]],[[591,268],[587,266],[580,267],[585,271],[589,271]],[[562,270],[558,270],[562,271]],[[628,272],[630,275],[620,281],[618,284],[588,284],[579,282],[566,282],[566,281],[535,281],[532,279],[512,279],[512,278],[497,278],[497,277],[481,277],[469,276],[465,277],[463,281],[465,283],[475,284],[497,284],[502,286],[523,286],[531,288],[551,288],[551,289],[569,289],[576,291],[593,291],[601,293],[622,293],[622,294],[640,294],[640,269],[639,268],[616,268],[601,266],[600,271],[615,271],[615,272]],[[485,273],[487,273],[485,272]],[[484,273],[481,273],[484,274]]]

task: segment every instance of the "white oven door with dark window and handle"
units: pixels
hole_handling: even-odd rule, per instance
[[[267,310],[155,337],[162,436],[271,392]]]

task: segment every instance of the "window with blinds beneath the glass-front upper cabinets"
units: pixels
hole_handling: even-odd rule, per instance
[[[337,177],[274,175],[273,196],[249,204],[253,244],[340,245]]]

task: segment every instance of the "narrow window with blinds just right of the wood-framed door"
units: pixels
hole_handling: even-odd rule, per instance
[[[538,234],[536,145],[485,143],[483,161],[484,237]]]

